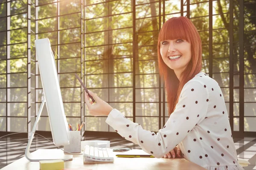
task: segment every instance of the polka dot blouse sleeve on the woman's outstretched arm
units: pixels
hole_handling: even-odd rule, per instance
[[[120,111],[113,109],[106,123],[119,135],[140,147],[156,158],[163,157],[188,135],[201,119],[205,118],[209,93],[201,82],[190,80],[181,93],[175,111],[157,134],[144,130],[138,123],[125,118]]]

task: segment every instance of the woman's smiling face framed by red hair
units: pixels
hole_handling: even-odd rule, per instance
[[[191,43],[183,39],[163,40],[160,42],[163,62],[176,72],[182,72],[191,60]]]

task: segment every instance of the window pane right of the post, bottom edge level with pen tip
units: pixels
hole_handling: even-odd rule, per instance
[[[85,62],[85,74],[108,73],[108,60]]]

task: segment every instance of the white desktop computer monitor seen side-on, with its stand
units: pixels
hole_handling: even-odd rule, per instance
[[[44,38],[35,40],[35,49],[44,91],[44,99],[38,111],[37,119],[32,132],[35,132],[44,103],[46,103],[53,142],[56,146],[64,146],[69,144],[70,133],[61,98],[61,89],[58,82],[55,59],[49,39]],[[29,153],[33,136],[34,133],[31,134],[25,151],[25,156],[30,161],[52,159],[63,159],[64,161],[67,161],[73,159],[72,155],[64,155],[63,150],[60,149],[39,149],[34,153]]]

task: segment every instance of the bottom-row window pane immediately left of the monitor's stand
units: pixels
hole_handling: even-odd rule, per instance
[[[8,117],[10,132],[27,132],[27,118]]]

